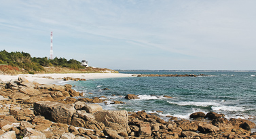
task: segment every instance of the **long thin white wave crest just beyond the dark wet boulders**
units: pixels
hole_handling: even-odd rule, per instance
[[[194,106],[219,106],[219,103],[216,102],[170,102],[170,104],[177,104],[180,106],[189,106],[189,105],[194,105]]]

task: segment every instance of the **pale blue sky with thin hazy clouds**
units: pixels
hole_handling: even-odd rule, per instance
[[[0,0],[0,50],[149,70],[256,70],[255,0]]]

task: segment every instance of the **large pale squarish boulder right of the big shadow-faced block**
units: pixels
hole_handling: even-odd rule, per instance
[[[106,127],[116,130],[117,133],[127,132],[127,111],[98,111],[94,113],[95,120],[102,122]]]

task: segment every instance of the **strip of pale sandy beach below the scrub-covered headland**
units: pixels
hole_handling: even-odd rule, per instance
[[[36,81],[40,84],[53,84],[58,81],[62,81],[63,77],[81,78],[81,79],[103,79],[103,78],[119,78],[119,77],[136,77],[132,74],[123,73],[66,73],[66,74],[35,74],[35,75],[0,75],[0,81],[10,81],[12,79],[18,79],[18,77],[24,77],[29,81]],[[43,77],[52,77],[53,79],[47,79]]]

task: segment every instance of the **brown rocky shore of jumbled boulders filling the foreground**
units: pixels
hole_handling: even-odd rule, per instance
[[[256,138],[255,123],[213,112],[164,121],[145,111],[103,110],[95,103],[105,102],[104,96],[75,99],[84,94],[68,84],[43,85],[24,77],[0,83],[0,138]]]

